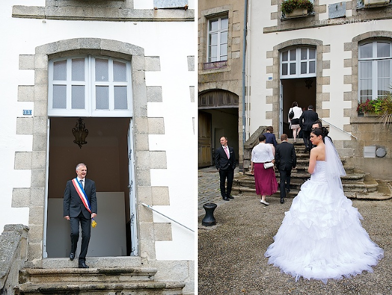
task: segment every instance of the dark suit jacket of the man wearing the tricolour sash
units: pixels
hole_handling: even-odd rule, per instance
[[[91,213],[96,214],[95,183],[93,180],[87,178],[84,178],[84,181],[84,191],[86,192],[88,201],[90,202]],[[88,212],[86,207],[84,207],[83,202],[74,187],[74,184],[72,184],[72,180],[68,180],[65,187],[63,212],[64,216],[69,217],[78,217],[80,212],[82,212],[85,218],[91,218],[91,213]]]

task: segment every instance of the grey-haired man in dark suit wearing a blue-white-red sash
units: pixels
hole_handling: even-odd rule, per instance
[[[82,246],[79,255],[79,268],[86,265],[88,243],[90,241],[91,218],[96,216],[95,183],[86,178],[87,167],[84,163],[76,166],[76,178],[67,181],[64,191],[64,218],[71,226],[71,251],[69,259],[74,260],[79,240],[79,224],[82,228]]]

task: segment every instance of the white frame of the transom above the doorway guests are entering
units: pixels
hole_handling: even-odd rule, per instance
[[[306,59],[301,59],[301,50],[306,49]],[[314,58],[310,58],[309,50],[315,51]],[[295,60],[290,60],[290,51],[295,50]],[[283,61],[283,53],[287,52],[287,61]],[[301,62],[306,62],[306,73],[301,74]],[[310,62],[314,62],[314,73],[309,73]],[[290,74],[290,63],[295,63],[295,74]],[[287,64],[287,75],[283,75],[283,65]],[[306,78],[316,77],[317,72],[317,51],[314,47],[291,47],[284,49],[280,52],[280,79],[292,79],[292,78]]]

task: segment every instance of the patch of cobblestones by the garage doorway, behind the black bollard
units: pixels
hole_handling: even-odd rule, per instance
[[[234,170],[234,175],[238,173],[239,168],[236,167]],[[219,173],[215,166],[199,169],[199,201],[198,201],[198,211],[199,215],[203,215],[206,211],[203,208],[205,203],[215,203],[217,206],[230,201],[224,201],[222,196],[220,196],[219,190]]]

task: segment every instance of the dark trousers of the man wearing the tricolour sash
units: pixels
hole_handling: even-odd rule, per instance
[[[82,245],[79,255],[79,264],[86,262],[88,243],[90,242],[91,219],[87,219],[80,212],[78,217],[70,217],[69,224],[71,225],[71,253],[76,254],[76,247],[79,240],[79,223],[82,228]]]

